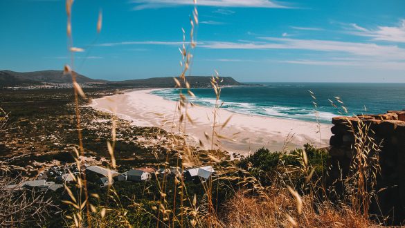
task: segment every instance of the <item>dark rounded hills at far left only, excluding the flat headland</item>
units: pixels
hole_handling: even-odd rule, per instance
[[[78,83],[99,83],[103,80],[91,79],[89,77],[76,73],[76,80]],[[41,84],[41,83],[71,83],[72,78],[70,75],[64,75],[62,70],[41,70],[34,72],[15,72],[11,70],[0,71],[0,85],[3,82],[12,85],[21,84]]]

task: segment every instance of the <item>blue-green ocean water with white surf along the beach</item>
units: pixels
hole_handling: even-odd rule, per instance
[[[314,93],[312,98],[309,91]],[[213,88],[193,88],[196,97],[189,99],[201,106],[215,105]],[[179,89],[152,92],[165,99],[179,99]],[[339,97],[338,102],[335,97]],[[336,108],[328,100],[338,106]],[[282,117],[330,123],[336,115],[386,113],[405,108],[405,84],[345,84],[345,83],[268,83],[260,86],[224,87],[220,97],[222,108],[236,113]],[[347,108],[346,114],[341,106]]]

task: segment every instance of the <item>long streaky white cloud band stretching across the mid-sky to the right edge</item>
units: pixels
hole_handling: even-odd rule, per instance
[[[99,44],[98,46],[181,46],[182,44],[183,42],[177,41],[125,41]],[[291,39],[287,37],[259,37],[258,41],[199,41],[197,48],[217,50],[304,50],[306,52],[298,55],[310,56],[314,54],[310,52],[316,52],[317,55],[311,57],[311,59],[286,59],[278,62],[318,66],[356,66],[405,70],[405,48],[399,48],[395,45],[316,39]],[[223,58],[216,59],[216,61],[236,62],[249,60]]]

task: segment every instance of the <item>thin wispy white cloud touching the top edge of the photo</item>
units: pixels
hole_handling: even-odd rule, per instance
[[[144,10],[148,8],[165,8],[174,6],[193,5],[190,0],[134,0],[136,3],[134,10]],[[215,7],[249,7],[249,8],[289,8],[270,0],[199,0],[198,6]]]

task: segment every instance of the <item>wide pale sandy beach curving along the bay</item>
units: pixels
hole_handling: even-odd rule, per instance
[[[90,106],[100,111],[116,113],[119,117],[132,121],[136,126],[158,126],[169,132],[178,131],[178,128],[172,128],[171,123],[163,124],[163,121],[179,122],[179,117],[177,115],[174,117],[177,102],[152,95],[151,91],[153,90],[137,90],[93,99]],[[186,125],[186,135],[196,143],[201,140],[204,148],[210,149],[211,144],[206,140],[204,132],[212,134],[213,108],[193,106],[188,108],[188,113],[194,124]],[[235,140],[235,142],[221,140],[221,148],[230,153],[249,155],[261,147],[271,151],[296,149],[303,148],[305,143],[317,147],[328,146],[332,135],[330,132],[332,124],[320,124],[321,133],[319,133],[318,124],[315,122],[245,115],[224,109],[219,110],[220,122],[225,122],[231,115],[231,120],[224,129],[219,127],[221,135]]]

